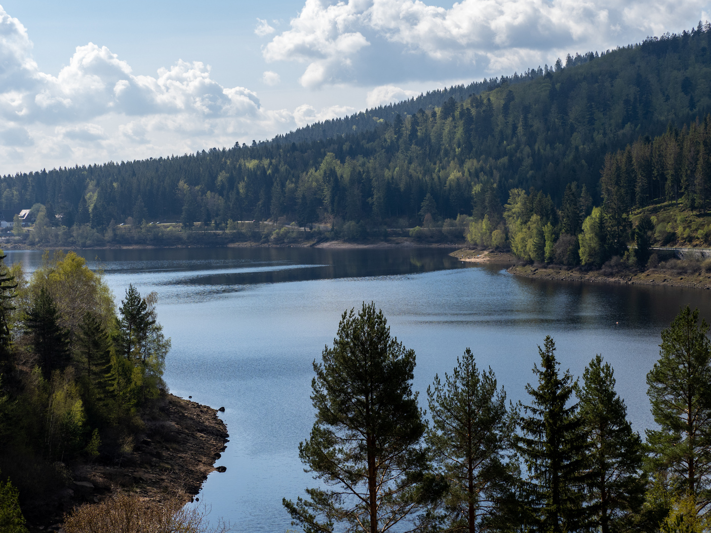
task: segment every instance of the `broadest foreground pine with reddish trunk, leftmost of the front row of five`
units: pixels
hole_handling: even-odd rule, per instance
[[[333,347],[314,361],[316,422],[299,444],[307,471],[320,480],[308,500],[284,499],[306,533],[389,531],[415,510],[424,451],[415,352],[390,336],[375,304],[343,313]]]

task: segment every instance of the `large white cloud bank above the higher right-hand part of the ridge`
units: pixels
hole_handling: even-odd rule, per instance
[[[649,35],[689,28],[704,0],[462,0],[450,9],[421,0],[306,0],[290,28],[272,38],[264,59],[304,63],[304,87],[368,77],[378,68],[358,61],[371,51],[390,64],[419,55],[485,74],[535,67],[557,54],[604,50]],[[378,57],[378,55],[380,57]],[[399,56],[399,57],[398,57]],[[358,63],[358,68],[355,64]],[[382,65],[381,65],[382,68]],[[427,72],[412,69],[410,79]]]

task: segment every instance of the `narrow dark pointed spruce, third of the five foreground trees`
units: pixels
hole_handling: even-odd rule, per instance
[[[550,335],[538,353],[541,367],[533,367],[538,387],[526,385],[532,404],[523,407],[528,416],[520,417],[522,434],[515,437],[515,450],[528,469],[523,517],[541,532],[573,532],[587,527],[590,515],[584,505],[589,446],[578,404],[571,404],[577,381],[568,370],[560,375]]]

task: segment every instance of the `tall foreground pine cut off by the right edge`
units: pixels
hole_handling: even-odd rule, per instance
[[[711,504],[711,343],[699,311],[681,309],[661,333],[659,360],[647,374],[659,429],[647,430],[653,464],[668,470],[672,488]]]

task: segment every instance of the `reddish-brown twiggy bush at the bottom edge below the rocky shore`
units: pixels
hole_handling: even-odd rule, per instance
[[[205,508],[183,507],[178,497],[165,503],[119,494],[96,505],[82,505],[65,517],[66,533],[223,533],[227,524],[210,528]]]

